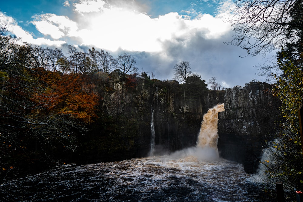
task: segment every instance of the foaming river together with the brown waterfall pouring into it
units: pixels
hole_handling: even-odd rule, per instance
[[[216,127],[205,126],[217,125],[220,110],[224,105],[203,117],[197,147],[157,157],[56,167],[0,185],[0,201],[257,201],[252,175],[241,164],[218,157]]]

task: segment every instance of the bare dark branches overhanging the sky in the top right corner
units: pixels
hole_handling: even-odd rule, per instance
[[[301,37],[299,0],[237,0],[235,5],[235,15],[228,19],[235,36],[228,44],[240,46],[248,54],[272,51]]]

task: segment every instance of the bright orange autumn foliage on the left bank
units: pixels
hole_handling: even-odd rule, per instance
[[[83,75],[74,78],[48,71],[40,78],[46,84],[45,91],[35,97],[48,113],[68,114],[85,124],[92,123],[97,117],[98,96]]]

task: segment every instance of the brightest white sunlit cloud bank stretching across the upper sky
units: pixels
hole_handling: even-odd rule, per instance
[[[37,30],[53,39],[72,37],[75,44],[95,46],[115,51],[162,51],[165,42],[186,45],[194,35],[211,39],[230,30],[220,18],[209,14],[195,19],[183,18],[171,12],[151,18],[145,13],[105,6],[101,0],[81,0],[74,3],[75,19],[55,14],[36,16],[32,23]],[[78,16],[77,16],[78,15]]]

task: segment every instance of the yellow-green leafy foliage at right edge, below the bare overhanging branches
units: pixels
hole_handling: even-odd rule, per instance
[[[303,158],[298,121],[298,108],[303,98],[301,62],[302,57],[294,62],[282,49],[278,59],[282,74],[274,75],[277,83],[272,90],[281,101],[280,110],[284,120],[275,141],[268,145],[268,156],[261,161],[266,176],[264,190],[270,200],[275,199],[277,181],[283,182],[287,200],[294,199],[294,190],[303,190]]]

